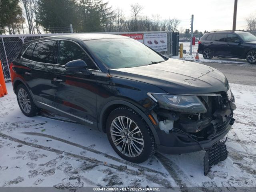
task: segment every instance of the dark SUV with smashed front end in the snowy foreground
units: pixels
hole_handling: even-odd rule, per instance
[[[122,158],[143,162],[210,148],[234,123],[234,96],[214,68],[170,59],[110,34],[73,34],[24,44],[10,65],[18,105],[105,132]]]

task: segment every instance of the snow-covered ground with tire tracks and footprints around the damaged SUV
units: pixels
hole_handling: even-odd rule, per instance
[[[235,124],[228,158],[203,174],[204,152],[122,160],[104,133],[20,111],[11,83],[0,98],[0,186],[256,186],[256,87],[230,84]]]

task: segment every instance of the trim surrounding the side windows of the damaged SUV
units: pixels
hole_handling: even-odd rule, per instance
[[[28,47],[30,47],[32,44],[36,44],[36,43],[41,43],[41,42],[46,42],[46,41],[59,41],[59,40],[63,40],[63,41],[70,41],[70,42],[73,42],[75,44],[77,44],[84,52],[85,54],[90,58],[90,60],[92,60],[92,62],[94,63],[94,65],[96,66],[96,68],[98,68],[98,70],[95,70],[95,69],[88,69],[88,70],[92,70],[92,71],[97,71],[97,72],[102,72],[100,70],[100,68],[98,67],[98,65],[94,62],[94,60],[92,59],[92,57],[84,50],[84,48],[82,48],[82,46],[80,46],[77,42],[73,41],[73,40],[70,40],[70,39],[48,39],[48,40],[42,40],[42,41],[38,41],[38,42],[33,42],[31,44],[29,44]],[[28,49],[28,47],[26,48],[26,50]],[[24,52],[22,53],[21,55],[21,58],[23,59],[26,59],[26,60],[29,60],[29,61],[32,61],[32,62],[37,62],[37,61],[33,61],[33,60],[30,60],[30,59],[27,59],[27,58],[24,58],[23,57],[23,54],[26,52],[26,50],[24,50]],[[58,54],[57,54],[58,56]],[[52,65],[57,65],[57,66],[64,66],[64,65],[60,65],[60,64],[54,64],[54,63],[43,63],[43,62],[38,62],[38,63],[42,63],[42,64],[52,64]]]

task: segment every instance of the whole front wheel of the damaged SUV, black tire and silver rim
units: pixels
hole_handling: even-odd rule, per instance
[[[144,162],[156,151],[154,136],[148,124],[130,108],[113,110],[106,122],[106,132],[115,152],[130,162]]]

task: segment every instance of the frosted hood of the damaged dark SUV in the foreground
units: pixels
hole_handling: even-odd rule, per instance
[[[203,64],[178,59],[168,59],[148,66],[110,69],[109,72],[112,76],[158,86],[170,94],[202,94],[228,90],[228,80],[222,72]]]

